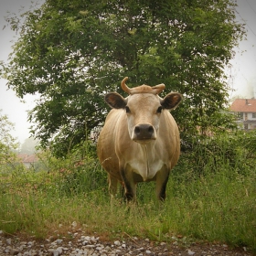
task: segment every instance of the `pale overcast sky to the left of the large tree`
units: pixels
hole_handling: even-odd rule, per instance
[[[13,41],[17,37],[16,33],[6,24],[5,16],[8,15],[8,12],[19,14],[22,6],[23,10],[26,11],[30,5],[31,0],[0,0],[0,61],[8,59],[8,55],[12,52]],[[5,29],[3,29],[4,26],[6,26]],[[0,79],[1,114],[7,115],[8,120],[14,123],[15,130],[11,134],[22,144],[30,136],[31,123],[27,122],[27,111],[35,106],[34,97],[27,95],[24,99],[27,103],[23,103],[16,97],[15,91],[7,90],[5,84],[6,80]]]

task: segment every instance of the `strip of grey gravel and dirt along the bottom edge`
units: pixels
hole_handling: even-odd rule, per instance
[[[83,231],[68,234],[69,238],[47,240],[24,239],[17,236],[6,236],[0,230],[0,255],[18,256],[121,256],[121,255],[232,255],[250,256],[245,248],[232,251],[225,244],[192,244],[184,246],[178,239],[171,243],[156,243],[151,240],[138,240],[127,234],[127,240],[105,241],[96,236],[87,236]]]

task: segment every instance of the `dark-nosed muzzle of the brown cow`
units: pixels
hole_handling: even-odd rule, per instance
[[[150,123],[139,123],[133,129],[133,141],[144,142],[156,139],[155,128]]]

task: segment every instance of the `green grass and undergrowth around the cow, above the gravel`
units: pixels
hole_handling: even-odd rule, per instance
[[[154,183],[139,184],[137,204],[127,206],[121,196],[111,203],[107,176],[89,154],[61,161],[45,155],[37,172],[2,169],[0,229],[46,238],[75,221],[108,239],[180,236],[256,252],[255,140],[255,133],[236,134],[193,144],[170,176],[164,204],[155,198]]]

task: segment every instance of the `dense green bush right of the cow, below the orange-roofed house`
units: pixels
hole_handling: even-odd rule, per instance
[[[193,176],[216,173],[230,168],[232,173],[250,176],[255,171],[256,131],[218,133],[212,136],[194,136],[187,150],[181,154],[177,173],[191,172]],[[186,168],[184,168],[186,165]]]

